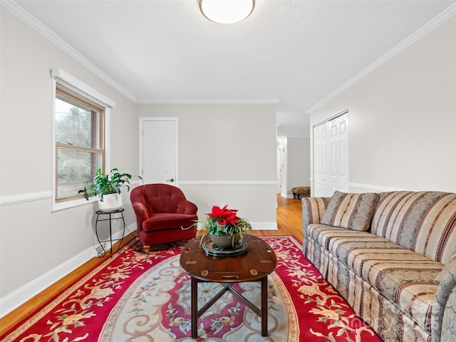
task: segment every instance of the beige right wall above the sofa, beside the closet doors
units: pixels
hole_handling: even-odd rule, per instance
[[[456,192],[456,18],[311,113],[348,108],[351,191]]]

